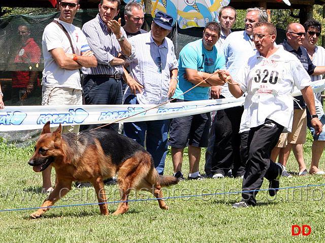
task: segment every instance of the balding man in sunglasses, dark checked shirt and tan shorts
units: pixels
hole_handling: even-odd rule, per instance
[[[303,67],[309,75],[321,75],[325,73],[325,67],[313,65],[311,59],[303,43],[305,40],[306,31],[300,23],[290,23],[285,29],[286,40],[281,46],[284,50],[293,53],[302,63]],[[294,150],[296,160],[299,165],[299,175],[307,174],[307,168],[303,157],[303,144],[306,143],[307,133],[307,106],[302,96],[295,97],[294,101],[294,123],[291,133],[282,133],[278,144],[272,151],[272,159],[276,160],[279,155],[278,162],[283,165],[282,176],[291,177],[286,171],[285,165],[289,158],[291,149]],[[312,118],[317,118],[317,115]]]

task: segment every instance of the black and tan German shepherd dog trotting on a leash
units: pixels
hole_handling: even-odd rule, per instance
[[[92,129],[61,134],[61,124],[50,131],[49,121],[44,125],[35,145],[35,153],[28,164],[34,171],[55,168],[56,184],[42,207],[53,204],[66,195],[73,181],[90,181],[93,185],[102,215],[108,215],[103,180],[116,173],[121,201],[127,201],[132,189],[147,189],[156,198],[163,198],[161,187],[178,183],[174,176],[159,175],[154,168],[151,155],[136,141],[108,129]],[[169,209],[163,199],[158,199],[161,209]],[[48,208],[40,208],[30,217],[41,217]],[[113,215],[128,210],[127,202],[120,202]]]

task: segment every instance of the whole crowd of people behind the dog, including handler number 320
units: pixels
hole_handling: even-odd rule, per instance
[[[281,176],[291,177],[286,163],[291,149],[299,176],[323,175],[319,160],[325,147],[325,115],[319,93],[311,82],[325,74],[325,49],[316,43],[321,23],[290,23],[286,39],[276,43],[277,32],[264,8],[246,11],[245,30],[232,32],[237,12],[222,7],[218,22],[206,23],[202,39],[188,43],[177,60],[173,42],[173,17],[157,12],[151,31],[141,29],[143,6],[125,6],[125,25],[114,18],[119,0],[101,0],[99,13],[82,29],[72,24],[79,0],[59,0],[60,15],[44,29],[42,105],[155,104],[239,98],[243,106],[165,120],[105,126],[122,132],[152,155],[159,174],[164,173],[168,146],[174,176],[184,180],[182,163],[188,147],[187,179],[243,179],[242,200],[233,207],[256,205],[255,196],[264,177],[269,194],[276,195]],[[21,48],[15,62],[39,62],[40,49],[27,25],[18,28]],[[29,54],[30,53],[30,54]],[[83,80],[80,79],[80,70]],[[22,101],[39,80],[35,72],[14,72],[13,97]],[[290,95],[297,87],[302,95]],[[189,90],[189,92],[188,92]],[[0,86],[0,109],[4,108]],[[104,124],[66,126],[78,133]],[[303,157],[307,128],[313,135],[309,170]],[[53,128],[55,129],[55,128]],[[206,149],[205,174],[199,171],[201,148]],[[278,163],[275,163],[278,160]],[[50,193],[51,167],[43,171],[43,190]],[[186,173],[187,174],[187,173]],[[116,184],[109,178],[106,184]],[[90,184],[76,183],[78,187]]]

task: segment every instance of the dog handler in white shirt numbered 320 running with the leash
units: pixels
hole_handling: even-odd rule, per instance
[[[248,160],[242,200],[232,205],[236,208],[256,205],[255,197],[264,177],[270,180],[270,196],[277,193],[283,168],[270,159],[270,154],[281,132],[291,130],[294,109],[290,94],[294,86],[301,90],[311,114],[316,114],[308,73],[295,55],[274,45],[275,39],[273,24],[256,23],[252,40],[258,52],[248,58],[235,78],[223,71],[232,83],[229,89],[234,97],[247,92],[240,132],[248,132]],[[320,121],[313,119],[312,124],[319,134]]]

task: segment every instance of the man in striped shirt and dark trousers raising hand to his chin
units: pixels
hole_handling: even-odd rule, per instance
[[[125,59],[132,59],[131,45],[125,37],[120,19],[113,20],[120,9],[119,0],[102,0],[99,14],[84,24],[82,31],[93,51],[98,65],[95,68],[83,68],[85,74],[83,90],[87,105],[122,104],[122,74]],[[120,50],[124,53],[120,55]],[[101,126],[88,125],[84,129]],[[118,124],[106,126],[118,131]]]

